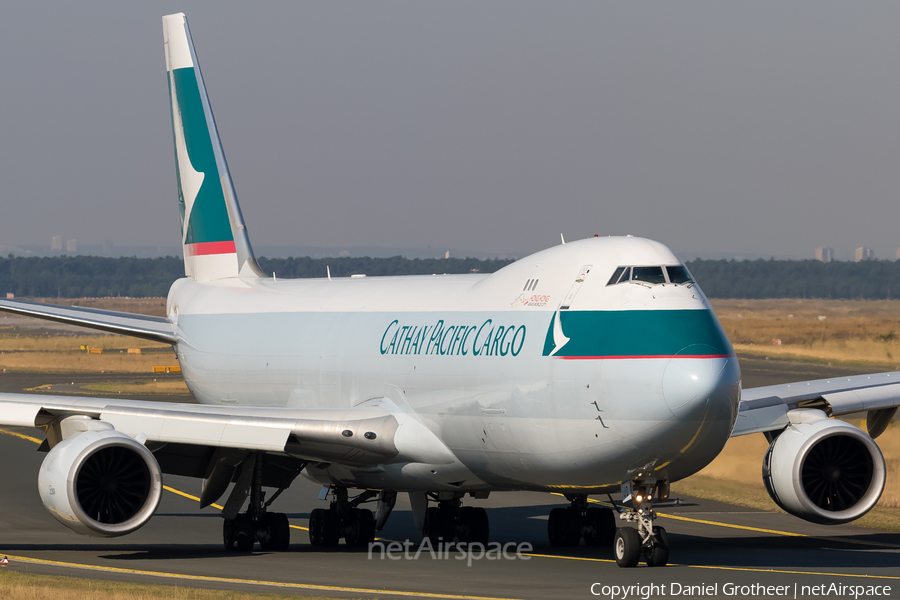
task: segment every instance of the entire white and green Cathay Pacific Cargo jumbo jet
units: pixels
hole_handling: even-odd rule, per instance
[[[731,436],[756,432],[785,511],[844,523],[878,501],[873,438],[900,404],[900,375],[742,393],[709,301],[658,242],[594,237],[492,274],[266,276],[187,20],[163,26],[185,265],[167,316],[0,300],[171,344],[199,402],[0,395],[0,424],[44,433],[40,496],[66,527],[130,533],[176,474],[202,480],[203,506],[225,497],[226,548],[286,550],[287,517],[263,488],[277,496],[303,475],[332,499],[311,513],[313,545],[371,542],[398,493],[434,542],[485,542],[487,513],[466,497],[534,490],[570,501],[549,516],[552,544],[583,539],[611,546],[620,566],[661,566],[653,503]],[[861,411],[868,432],[829,418]],[[589,505],[592,494],[621,494],[620,511]]]

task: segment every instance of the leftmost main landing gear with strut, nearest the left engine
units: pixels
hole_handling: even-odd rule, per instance
[[[247,468],[242,472],[241,479],[235,485],[232,497],[229,498],[223,511],[227,515],[232,507],[234,512],[231,514],[240,510],[240,505],[246,498],[246,488],[249,483],[250,506],[247,507],[247,512],[238,514],[232,519],[226,516],[222,524],[225,550],[250,552],[253,550],[253,544],[258,541],[259,547],[264,551],[285,552],[291,545],[291,529],[287,515],[270,513],[266,509],[287,486],[275,492],[272,499],[266,502],[266,494],[262,491],[263,453],[255,453],[255,457],[251,457],[250,461],[252,461],[252,468]],[[235,503],[237,503],[236,506],[234,506]]]

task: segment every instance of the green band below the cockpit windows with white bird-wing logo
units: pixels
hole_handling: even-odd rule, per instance
[[[544,356],[556,347],[550,319]],[[665,358],[731,356],[734,349],[709,310],[560,311],[569,341],[560,358]]]

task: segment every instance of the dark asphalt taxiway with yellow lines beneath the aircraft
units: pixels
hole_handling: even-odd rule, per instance
[[[745,387],[854,372],[764,359],[742,359],[742,368]],[[65,381],[75,379],[3,374],[0,391]],[[124,538],[88,538],[58,524],[40,502],[36,480],[44,455],[36,452],[36,442],[41,437],[32,429],[8,429],[0,435],[0,556],[9,556],[8,569],[353,598],[591,598],[597,597],[591,593],[595,583],[600,584],[593,588],[597,593],[604,585],[666,586],[665,593],[657,588],[653,597],[735,597],[729,595],[727,584],[787,586],[786,593],[777,597],[794,597],[795,584],[830,583],[891,586],[887,597],[900,597],[900,534],[852,525],[813,525],[787,515],[692,498],[681,498],[678,506],[657,507],[658,524],[670,534],[673,564],[655,569],[620,569],[610,548],[551,547],[547,515],[566,502],[536,493],[495,493],[487,500],[466,501],[487,508],[492,542],[531,545],[519,556],[508,547],[512,555],[508,559],[481,558],[469,564],[468,556],[460,560],[455,550],[438,556],[427,549],[413,556],[421,535],[413,527],[405,495],[379,535],[386,543],[414,542],[408,558],[402,552],[396,560],[377,552],[370,557],[365,550],[343,545],[313,548],[304,529],[308,515],[327,505],[317,499],[319,487],[302,478],[272,506],[288,513],[294,527],[286,553],[225,553],[218,510],[199,510],[193,497],[199,493],[199,481],[174,476],[165,478],[160,508],[144,528]],[[685,594],[682,587],[680,594],[673,594],[672,584],[717,587],[691,590],[692,594]]]

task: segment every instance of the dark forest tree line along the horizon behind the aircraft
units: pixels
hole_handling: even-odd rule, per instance
[[[506,259],[435,258],[260,258],[260,268],[276,277],[332,277],[355,274],[431,275],[493,273]],[[900,298],[900,261],[858,263],[816,260],[695,260],[687,263],[711,298]],[[0,258],[0,294],[16,297],[165,296],[184,276],[180,257],[99,256]]]

